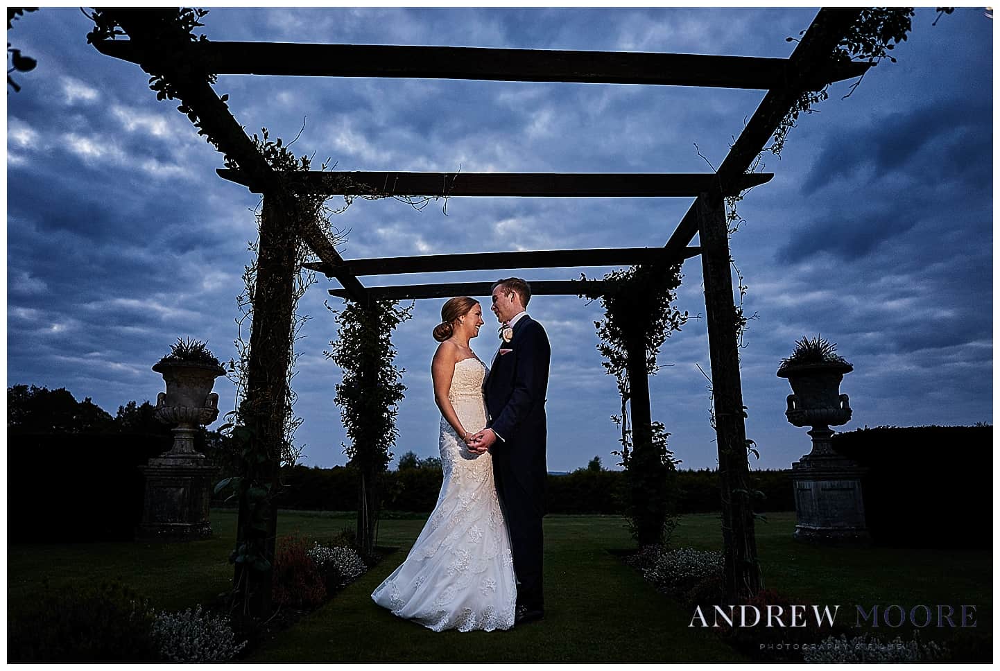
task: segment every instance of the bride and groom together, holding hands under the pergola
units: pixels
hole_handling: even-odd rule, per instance
[[[522,279],[493,285],[500,346],[489,367],[469,346],[484,323],[478,301],[452,298],[434,329],[444,482],[406,560],[372,592],[375,603],[434,631],[510,629],[544,616],[551,350],[525,312],[530,299]]]

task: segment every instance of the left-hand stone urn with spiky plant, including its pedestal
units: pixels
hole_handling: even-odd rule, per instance
[[[216,467],[195,449],[198,427],[219,416],[215,378],[225,374],[218,359],[198,341],[181,341],[153,366],[167,391],[156,397],[154,416],[174,424],[170,450],[141,467],[146,476],[145,506],[139,535],[187,539],[210,536],[209,501]]]

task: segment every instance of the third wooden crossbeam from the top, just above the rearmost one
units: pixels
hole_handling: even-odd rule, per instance
[[[325,263],[305,263],[304,267],[334,277],[338,271],[352,275],[398,275],[453,270],[499,270],[511,268],[585,268],[632,266],[639,263],[679,263],[697,256],[698,247],[688,247],[680,257],[668,258],[663,247],[619,249],[572,249],[537,252],[478,252],[473,254],[433,254],[394,256],[379,259],[345,259],[341,267]]]

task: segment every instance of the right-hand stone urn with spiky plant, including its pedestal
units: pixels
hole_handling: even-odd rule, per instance
[[[792,386],[785,417],[793,426],[812,427],[812,451],[792,464],[797,524],[794,537],[814,541],[867,541],[861,476],[865,470],[833,451],[830,426],[851,419],[844,375],[854,366],[836,354],[836,345],[816,336],[796,342],[782,360],[778,377]]]

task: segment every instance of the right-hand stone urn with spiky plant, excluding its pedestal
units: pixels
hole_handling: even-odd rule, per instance
[[[788,378],[785,416],[795,426],[845,424],[851,418],[847,394],[840,393],[844,374],[854,366],[837,354],[837,344],[817,335],[796,341],[791,356],[781,360],[778,377]]]

